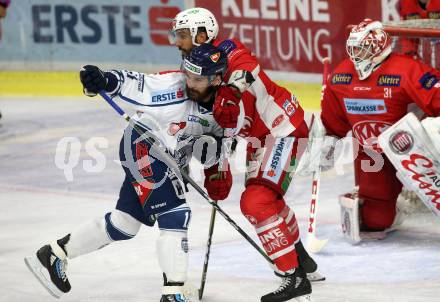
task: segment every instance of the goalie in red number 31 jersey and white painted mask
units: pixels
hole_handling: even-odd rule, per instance
[[[415,105],[425,115],[439,115],[440,72],[392,53],[390,37],[378,21],[366,19],[355,26],[346,47],[349,58],[327,79],[321,120],[327,135],[342,138],[352,131],[355,138],[359,190],[357,197],[341,196],[341,214],[344,234],[359,242],[359,230],[367,235],[391,227],[402,190],[377,137]]]

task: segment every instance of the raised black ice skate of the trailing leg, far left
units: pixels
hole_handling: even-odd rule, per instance
[[[56,242],[43,246],[33,256],[25,257],[24,262],[55,298],[60,298],[62,294],[70,291],[71,286],[66,275],[66,254]]]

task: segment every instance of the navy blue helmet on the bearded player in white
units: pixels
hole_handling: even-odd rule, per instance
[[[195,47],[183,59],[183,69],[200,76],[213,76],[226,72],[228,57],[226,53],[210,43]]]

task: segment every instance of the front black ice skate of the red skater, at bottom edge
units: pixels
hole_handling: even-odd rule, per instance
[[[283,277],[280,287],[261,297],[261,302],[298,301],[312,302],[312,286],[305,271],[298,267],[295,272]]]

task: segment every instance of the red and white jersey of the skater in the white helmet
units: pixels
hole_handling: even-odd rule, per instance
[[[215,41],[214,45],[228,55],[226,83],[235,70],[246,70],[255,79],[241,96],[245,121],[240,136],[263,138],[269,133],[275,137],[307,136],[304,111],[297,99],[267,76],[249,49],[236,39]]]

